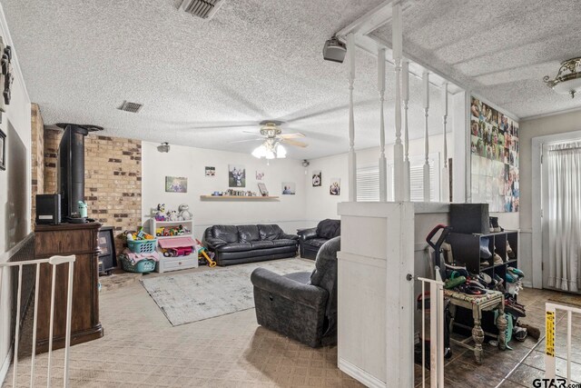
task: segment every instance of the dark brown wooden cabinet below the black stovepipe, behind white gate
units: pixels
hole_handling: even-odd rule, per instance
[[[85,343],[103,336],[99,321],[99,248],[97,234],[101,224],[36,225],[34,228],[34,258],[44,259],[58,255],[74,254],[73,318],[71,344]],[[64,347],[66,327],[66,289],[68,264],[58,265],[54,291],[53,349]],[[38,303],[38,328],[36,351],[48,351],[52,269],[42,264]]]

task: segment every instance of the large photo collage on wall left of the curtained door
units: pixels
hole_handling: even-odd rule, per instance
[[[518,212],[518,123],[472,96],[471,194],[490,212]]]

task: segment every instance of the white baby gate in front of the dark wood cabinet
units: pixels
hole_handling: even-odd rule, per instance
[[[15,345],[14,345],[14,363],[12,386],[16,386],[16,379],[18,376],[18,344],[20,342],[20,319],[21,319],[21,299],[22,299],[22,274],[25,265],[35,266],[36,278],[34,281],[34,315],[33,315],[33,340],[32,340],[32,355],[30,363],[30,386],[34,386],[34,359],[36,356],[36,320],[38,313],[38,293],[40,280],[40,266],[48,263],[52,265],[53,279],[51,282],[51,312],[49,323],[48,336],[48,362],[47,362],[47,376],[46,386],[51,385],[51,357],[53,353],[53,331],[54,331],[54,285],[56,278],[56,266],[68,263],[68,286],[66,291],[66,328],[64,335],[64,387],[69,386],[69,348],[71,347],[71,310],[73,306],[73,271],[74,271],[75,256],[53,256],[47,259],[28,260],[21,262],[0,263],[0,290],[2,290],[2,280],[4,277],[5,268],[18,267],[18,291],[16,295],[16,318],[15,318]]]

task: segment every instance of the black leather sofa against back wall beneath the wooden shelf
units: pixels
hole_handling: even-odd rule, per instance
[[[285,234],[276,224],[213,225],[203,239],[218,265],[294,257],[299,246],[298,235]]]

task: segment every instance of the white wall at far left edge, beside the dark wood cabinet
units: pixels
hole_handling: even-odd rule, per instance
[[[4,10],[0,5],[0,31],[5,45],[12,45],[8,33]],[[0,263],[5,263],[11,248],[30,233],[30,165],[31,165],[31,116],[30,99],[20,67],[13,51],[15,80],[12,86],[12,101],[6,105],[0,128],[6,134],[6,170],[0,171]],[[2,85],[4,89],[4,85]],[[0,289],[0,384],[10,363],[10,311],[11,279],[5,271]]]

